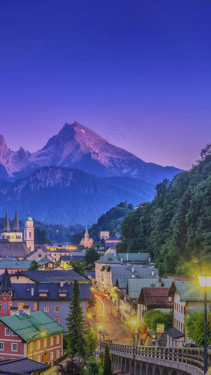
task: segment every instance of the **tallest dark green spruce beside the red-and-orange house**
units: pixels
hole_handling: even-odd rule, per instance
[[[85,357],[85,319],[80,306],[80,290],[77,281],[73,284],[72,301],[69,306],[67,321],[67,355],[69,358],[75,356]]]

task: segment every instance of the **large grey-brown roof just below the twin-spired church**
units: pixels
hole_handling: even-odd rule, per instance
[[[25,242],[0,242],[0,257],[24,258],[28,251]]]

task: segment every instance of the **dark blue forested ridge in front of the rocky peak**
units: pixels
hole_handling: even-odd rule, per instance
[[[87,225],[120,201],[150,201],[154,185],[131,177],[100,178],[78,169],[49,166],[0,189],[0,216],[18,204],[19,218],[28,207],[42,222]]]

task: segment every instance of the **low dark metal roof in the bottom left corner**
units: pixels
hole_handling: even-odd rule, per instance
[[[3,371],[13,373],[31,373],[33,371],[45,370],[48,368],[48,365],[33,361],[27,357],[0,361],[1,374]]]

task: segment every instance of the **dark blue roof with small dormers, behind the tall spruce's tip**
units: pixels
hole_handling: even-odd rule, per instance
[[[64,284],[63,289],[58,284],[12,284],[15,288],[13,300],[72,300],[73,284]],[[33,291],[31,291],[33,289]],[[65,290],[65,291],[64,291]],[[67,292],[66,292],[67,290]],[[80,299],[91,300],[91,281],[87,284],[80,284]],[[47,293],[47,296],[39,296],[39,293]],[[59,293],[67,293],[66,296],[60,297]]]

